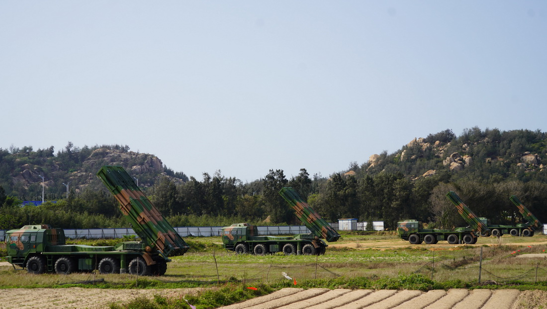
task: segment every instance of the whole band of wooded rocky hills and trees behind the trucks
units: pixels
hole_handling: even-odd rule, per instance
[[[347,170],[329,177],[310,177],[302,167],[290,179],[283,170],[270,170],[251,183],[220,172],[204,173],[202,180],[187,177],[164,166],[156,156],[135,153],[127,145],[78,148],[69,142],[56,155],[53,147],[34,151],[30,146],[12,146],[0,148],[0,229],[29,223],[62,228],[127,226],[117,202],[95,176],[102,165],[126,168],[155,206],[178,226],[235,221],[300,224],[278,195],[282,186],[299,191],[328,221],[383,220],[390,229],[401,219],[443,228],[463,225],[445,197],[452,190],[477,215],[493,223],[522,219],[509,201],[513,194],[547,222],[547,171],[542,163],[546,143],[547,133],[539,130],[473,127],[456,136],[447,129],[414,138],[394,153],[371,155],[362,164],[351,162]],[[50,202],[20,207],[22,200],[41,201],[42,189]]]

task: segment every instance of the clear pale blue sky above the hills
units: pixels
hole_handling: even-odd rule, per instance
[[[446,129],[547,131],[546,1],[2,1],[0,148],[328,177]]]

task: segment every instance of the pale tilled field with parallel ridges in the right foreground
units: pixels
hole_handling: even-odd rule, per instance
[[[537,291],[540,298],[547,293]],[[526,295],[525,295],[526,294]],[[536,295],[537,296],[537,295]],[[349,290],[284,288],[223,309],[514,309],[528,307],[529,293],[514,289]],[[521,298],[525,298],[522,302]],[[542,300],[543,301],[543,300]],[[532,306],[533,307],[533,306]]]

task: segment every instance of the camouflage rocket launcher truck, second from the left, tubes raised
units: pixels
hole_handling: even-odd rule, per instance
[[[259,235],[257,227],[247,223],[236,223],[222,228],[222,242],[226,250],[236,254],[264,255],[283,252],[285,255],[320,255],[325,253],[328,242],[337,241],[340,235],[325,221],[293,188],[285,187],[281,196],[296,211],[296,217],[310,229],[310,234],[293,236]]]

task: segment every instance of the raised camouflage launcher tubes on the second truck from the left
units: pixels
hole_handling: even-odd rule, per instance
[[[340,234],[321,218],[293,188],[283,187],[279,194],[293,207],[296,217],[310,229],[313,235],[328,242],[337,241],[340,238]]]

